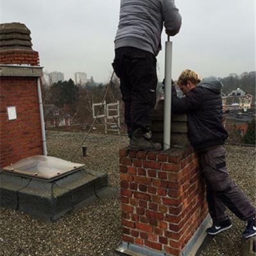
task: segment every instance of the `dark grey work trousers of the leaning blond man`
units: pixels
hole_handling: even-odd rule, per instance
[[[241,220],[251,220],[256,214],[255,207],[230,179],[225,162],[225,147],[221,145],[200,152],[199,155],[206,180],[208,208],[215,225],[229,219],[225,213],[226,206]]]

